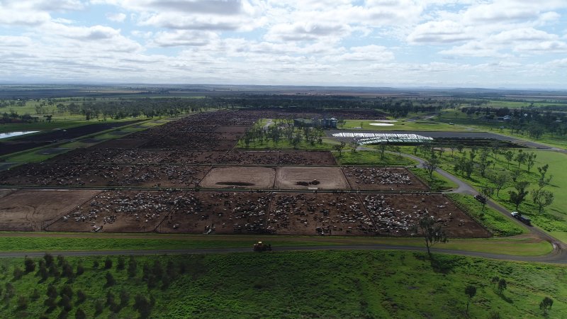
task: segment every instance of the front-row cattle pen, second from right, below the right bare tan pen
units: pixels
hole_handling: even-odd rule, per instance
[[[275,194],[267,229],[278,235],[374,235],[356,194]]]

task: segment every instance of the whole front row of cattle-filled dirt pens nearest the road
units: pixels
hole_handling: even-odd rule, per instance
[[[432,216],[450,237],[490,235],[442,195],[174,190],[87,195],[38,220],[59,218],[47,227],[52,231],[410,236],[419,218]],[[33,201],[30,194],[20,198],[22,207]]]

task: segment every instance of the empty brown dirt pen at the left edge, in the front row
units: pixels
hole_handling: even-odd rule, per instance
[[[27,190],[0,198],[0,230],[39,231],[100,191]]]

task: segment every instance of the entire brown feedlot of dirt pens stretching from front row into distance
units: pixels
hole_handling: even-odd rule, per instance
[[[0,229],[408,236],[420,216],[434,216],[453,237],[490,235],[449,199],[426,194],[408,169],[337,167],[342,156],[328,151],[235,150],[270,112],[198,113],[2,171],[4,186],[34,189],[2,198],[18,208],[0,206]],[[45,187],[55,188],[41,197],[54,208],[24,196]],[[51,200],[47,192],[77,195]],[[28,206],[30,220],[11,217]]]

